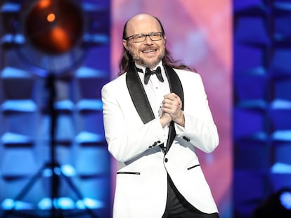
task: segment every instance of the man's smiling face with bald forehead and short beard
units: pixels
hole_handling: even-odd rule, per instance
[[[141,15],[127,23],[127,37],[134,34],[150,34],[162,32],[159,22],[149,15]],[[153,69],[164,57],[165,36],[161,40],[153,41],[146,36],[143,42],[134,42],[134,39],[123,40],[124,47],[129,51],[136,64]]]

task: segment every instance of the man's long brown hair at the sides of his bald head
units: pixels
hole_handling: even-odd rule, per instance
[[[154,17],[157,22],[159,22],[160,27],[162,29],[162,33],[164,34],[164,27],[162,26],[162,22],[160,22],[160,20],[156,17]],[[123,34],[122,34],[122,39],[126,39],[127,38],[127,23],[129,22],[129,20],[127,20],[127,22],[125,23],[124,27],[123,27]],[[119,62],[119,74],[118,76],[124,74],[126,71],[128,71],[129,69],[129,65],[134,62],[131,54],[129,54],[129,51],[127,49],[124,48],[123,46],[123,51],[122,51],[122,58]],[[194,71],[191,67],[188,67],[186,64],[182,64],[180,60],[174,60],[171,53],[169,52],[169,50],[167,50],[167,48],[165,48],[164,50],[164,57],[162,58],[162,62],[164,64],[167,64],[169,67],[175,68],[175,69],[188,69],[191,71]]]

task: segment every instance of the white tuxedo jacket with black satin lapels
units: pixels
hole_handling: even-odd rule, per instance
[[[160,218],[167,200],[167,173],[179,192],[202,212],[217,212],[195,149],[214,151],[219,137],[199,74],[164,66],[170,90],[180,96],[185,127],[170,126],[167,142],[136,69],[102,88],[105,137],[117,160],[113,217]],[[176,132],[175,132],[176,129]],[[167,143],[164,152],[159,144]]]

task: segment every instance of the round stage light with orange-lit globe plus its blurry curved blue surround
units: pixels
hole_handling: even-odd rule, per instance
[[[22,41],[16,43],[13,37],[11,44],[17,48],[19,59],[35,74],[63,74],[84,60],[88,19],[82,1],[25,0],[17,28]]]

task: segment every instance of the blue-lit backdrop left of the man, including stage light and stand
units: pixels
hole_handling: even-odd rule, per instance
[[[0,217],[110,217],[109,39],[109,0],[0,1]]]

